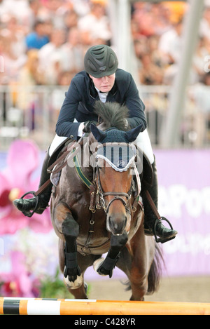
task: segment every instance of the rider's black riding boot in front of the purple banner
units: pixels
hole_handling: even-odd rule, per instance
[[[155,161],[152,164],[153,167],[153,186],[148,189],[156,208],[158,209],[158,175]],[[144,232],[146,235],[157,235],[160,237],[160,242],[166,242],[167,239],[172,239],[176,236],[177,231],[174,229],[168,229],[162,224],[162,221],[158,221],[158,218],[153,213],[150,203],[146,198],[145,192],[142,194],[144,204]]]

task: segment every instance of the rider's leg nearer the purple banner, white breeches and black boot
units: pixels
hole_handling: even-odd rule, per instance
[[[140,133],[135,140],[135,144],[146,154],[148,160],[151,162],[151,166],[153,168],[153,184],[148,188],[149,194],[151,194],[151,198],[153,199],[156,208],[158,209],[158,175],[157,168],[155,163],[155,156],[153,155],[153,149],[151,147],[151,141],[148,136],[147,130],[144,130],[143,133]],[[144,186],[143,186],[144,189]],[[155,221],[157,217],[153,213],[150,203],[148,202],[146,195],[142,193],[142,199],[144,204],[144,230],[146,235],[154,234]],[[160,238],[169,239],[177,234],[177,231],[174,229],[168,229],[165,227],[162,222],[158,222],[155,227],[156,234],[160,236]]]

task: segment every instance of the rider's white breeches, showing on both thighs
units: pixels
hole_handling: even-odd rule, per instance
[[[52,143],[50,145],[49,149],[49,155],[52,156],[52,153],[59,147],[59,145],[66,140],[67,137],[62,137],[55,135],[54,140],[52,140]],[[151,140],[148,136],[148,131],[144,130],[142,133],[140,133],[137,137],[137,139],[134,141],[134,144],[137,145],[143,152],[146,154],[148,160],[151,162],[151,164],[154,162],[154,155],[153,155],[153,149],[151,146]]]

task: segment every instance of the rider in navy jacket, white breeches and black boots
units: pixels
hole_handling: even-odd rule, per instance
[[[52,144],[48,148],[43,168],[41,171],[41,180],[39,187],[46,182],[50,174],[47,172],[50,156],[62,142],[70,137],[72,140],[78,140],[83,133],[90,132],[90,124],[97,124],[97,115],[93,113],[94,102],[118,102],[120,105],[126,105],[129,109],[129,118],[127,124],[130,128],[143,124],[143,132],[139,133],[137,142],[141,142],[143,151],[153,168],[153,184],[148,189],[151,197],[158,207],[158,178],[155,166],[155,157],[151,142],[146,130],[146,116],[144,114],[144,103],[139,98],[137,86],[134,83],[132,75],[123,69],[118,69],[118,58],[113,49],[106,45],[92,46],[87,50],[84,58],[85,71],[79,72],[71,80],[69,90],[66,93],[62,108],[56,125],[56,134]],[[38,207],[36,213],[43,213],[50,200],[52,183],[38,196]],[[142,195],[144,203],[144,229],[145,234],[154,235],[154,226],[157,217],[151,209],[146,196]],[[36,198],[16,199],[14,205],[25,215],[29,215],[30,210],[36,207]],[[162,221],[155,226],[155,232],[160,238],[172,239],[177,232],[165,227]]]

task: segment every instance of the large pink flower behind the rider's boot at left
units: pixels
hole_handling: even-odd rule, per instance
[[[43,233],[52,229],[49,208],[42,215],[34,213],[29,218],[13,206],[14,199],[38,189],[39,177],[33,179],[32,175],[39,161],[38,147],[34,142],[15,140],[10,145],[7,166],[0,172],[0,235],[14,234],[23,227]]]

